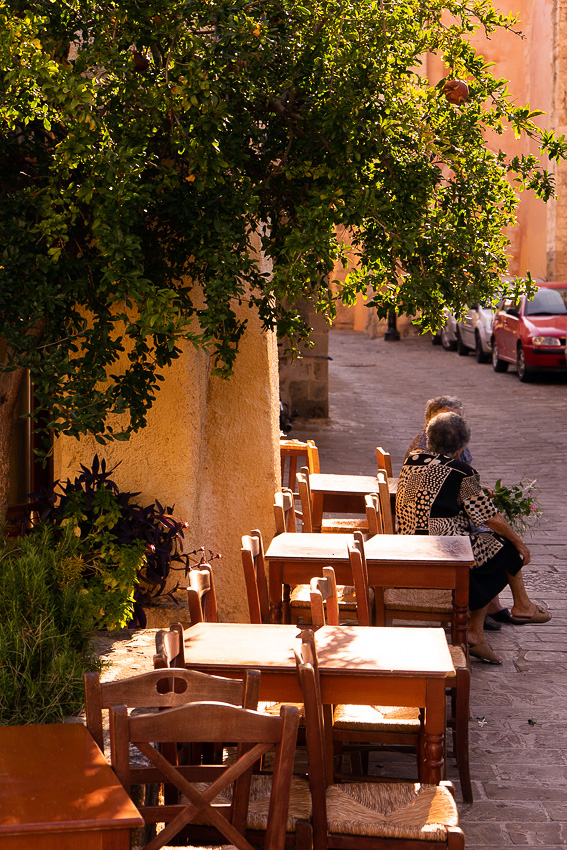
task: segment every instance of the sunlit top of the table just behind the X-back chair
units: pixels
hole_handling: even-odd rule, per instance
[[[185,631],[188,667],[295,673],[297,626],[197,623]],[[454,673],[440,628],[324,626],[315,633],[322,676],[445,678]]]

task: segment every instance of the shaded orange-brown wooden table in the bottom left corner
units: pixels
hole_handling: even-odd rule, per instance
[[[0,727],[2,850],[129,850],[143,825],[85,726]]]

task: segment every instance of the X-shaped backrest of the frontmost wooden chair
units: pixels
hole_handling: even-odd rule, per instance
[[[111,708],[112,767],[130,793],[133,784],[166,782],[185,798],[178,805],[139,806],[146,823],[165,822],[165,828],[147,850],[169,844],[182,827],[198,818],[215,827],[238,850],[252,850],[244,838],[248,813],[251,772],[255,763],[276,747],[271,786],[266,850],[283,850],[289,806],[293,759],[299,712],[282,706],[280,716],[260,714],[219,702],[195,702],[157,714],[128,715],[125,706]],[[176,741],[202,743],[225,740],[239,746],[235,762],[228,765],[172,765],[159,751],[159,745]],[[133,767],[129,748],[133,745],[150,763]],[[194,783],[206,783],[198,786]],[[234,783],[232,805],[211,805]],[[219,843],[226,843],[223,839]]]

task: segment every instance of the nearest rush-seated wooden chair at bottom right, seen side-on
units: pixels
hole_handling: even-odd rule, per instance
[[[305,703],[314,850],[464,850],[450,783],[328,783],[313,633],[302,638],[296,660]]]

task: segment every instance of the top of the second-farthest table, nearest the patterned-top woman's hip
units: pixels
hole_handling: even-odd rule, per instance
[[[268,549],[268,561],[348,561],[352,534],[285,532],[277,534]],[[435,566],[472,566],[469,537],[436,537],[413,534],[375,534],[364,542],[368,564],[399,562]]]

